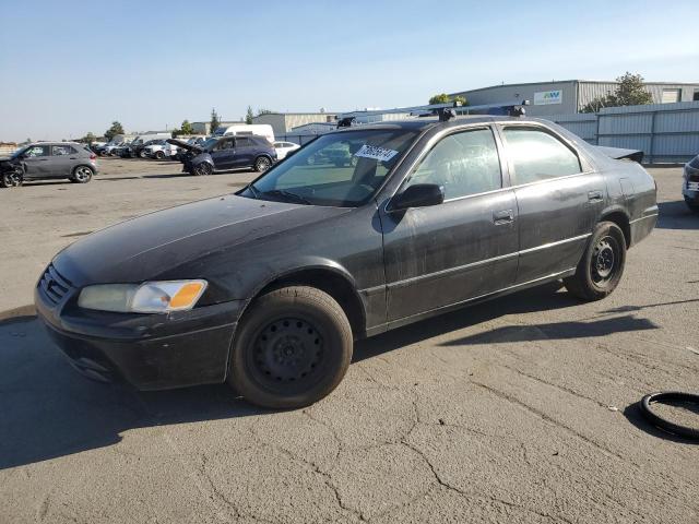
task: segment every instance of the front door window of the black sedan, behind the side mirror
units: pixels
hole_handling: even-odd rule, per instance
[[[450,134],[440,140],[411,175],[407,186],[436,183],[445,200],[502,187],[500,160],[490,129]]]

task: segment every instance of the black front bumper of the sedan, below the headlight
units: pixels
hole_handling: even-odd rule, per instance
[[[79,308],[78,289],[57,300],[43,283],[34,294],[38,317],[83,374],[139,390],[226,379],[241,301],[169,314],[111,313]]]

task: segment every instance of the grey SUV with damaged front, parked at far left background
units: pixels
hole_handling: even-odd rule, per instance
[[[97,155],[76,142],[38,142],[0,158],[0,187],[22,186],[26,180],[67,178],[86,183],[97,174]]]

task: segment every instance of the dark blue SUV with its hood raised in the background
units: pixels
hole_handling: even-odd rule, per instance
[[[190,175],[211,175],[215,170],[252,167],[264,172],[276,162],[276,150],[264,136],[212,136],[201,145],[170,139],[167,142],[187,151],[182,170]]]

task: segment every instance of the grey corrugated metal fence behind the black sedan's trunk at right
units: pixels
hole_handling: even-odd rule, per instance
[[[699,102],[607,107],[547,119],[592,144],[641,150],[648,163],[684,163],[699,154]]]

